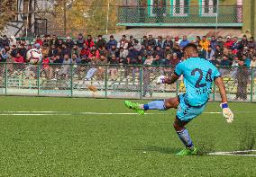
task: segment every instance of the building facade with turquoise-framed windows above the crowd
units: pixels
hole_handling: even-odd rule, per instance
[[[254,35],[255,1],[123,0],[117,25],[128,28],[235,28]]]

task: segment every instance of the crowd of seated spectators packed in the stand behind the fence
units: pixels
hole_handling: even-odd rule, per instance
[[[17,40],[14,36],[7,38],[4,35],[0,38],[0,62],[28,63],[29,61],[26,59],[27,51],[37,48],[41,50],[43,70],[49,78],[52,78],[52,70],[54,70],[53,66],[49,66],[51,63],[62,65],[59,75],[66,77],[69,72],[69,66],[66,64],[87,64],[87,66],[91,66],[90,69],[86,69],[87,79],[95,75],[96,72],[99,77],[102,77],[101,75],[104,74],[105,70],[100,66],[96,67],[96,65],[109,64],[111,65],[109,67],[111,79],[114,80],[118,66],[145,65],[171,66],[171,68],[174,68],[184,59],[182,49],[188,43],[195,43],[200,58],[206,58],[215,66],[222,66],[220,69],[222,74],[224,75],[227,72],[229,75],[233,75],[238,81],[243,82],[240,85],[246,85],[246,80],[250,75],[244,68],[256,66],[256,41],[253,37],[248,39],[246,35],[243,35],[242,39],[231,36],[219,36],[217,38],[215,36],[203,36],[202,38],[197,36],[195,40],[188,40],[185,35],[181,38],[178,36],[174,38],[170,36],[153,38],[152,35],[149,35],[143,36],[142,39],[123,35],[121,40],[115,40],[113,35],[107,40],[102,35],[93,39],[91,35],[85,37],[79,34],[77,39],[71,39],[68,36],[65,40],[58,38],[56,35],[45,35],[42,38],[38,36],[32,44],[26,40]],[[230,68],[230,66],[243,66],[243,69],[239,69],[239,67],[224,69]],[[31,67],[28,67],[28,69],[31,69]],[[55,67],[55,69],[58,70],[59,68]],[[166,68],[162,70],[163,72],[170,72]],[[127,71],[133,73],[133,77],[134,73],[138,72],[136,69]],[[29,71],[26,75],[30,75]],[[147,78],[143,80],[144,83],[150,82],[147,81]],[[239,95],[242,93],[244,95],[246,88],[238,92],[240,92]],[[245,99],[245,96],[242,99]]]

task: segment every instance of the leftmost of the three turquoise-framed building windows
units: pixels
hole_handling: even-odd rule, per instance
[[[155,17],[158,13],[166,15],[166,0],[148,0],[148,13],[150,16]]]

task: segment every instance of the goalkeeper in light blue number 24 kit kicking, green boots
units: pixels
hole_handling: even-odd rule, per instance
[[[189,121],[200,115],[206,108],[209,94],[212,90],[213,81],[218,86],[222,97],[221,108],[227,122],[233,121],[233,112],[228,108],[223,78],[217,68],[204,58],[198,58],[197,46],[187,44],[183,49],[185,61],[176,66],[174,74],[170,77],[161,75],[159,84],[174,84],[180,75],[184,76],[186,93],[178,95],[176,98],[169,98],[164,101],[154,101],[147,104],[125,101],[125,105],[144,114],[148,110],[166,111],[170,108],[177,109],[174,120],[174,128],[178,137],[186,146],[178,155],[197,155],[197,147],[194,146],[187,128]]]

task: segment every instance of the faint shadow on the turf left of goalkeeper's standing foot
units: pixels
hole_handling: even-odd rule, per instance
[[[163,146],[135,146],[134,150],[145,151],[145,152],[160,152],[163,154],[177,154],[180,149],[173,147],[163,147]]]

